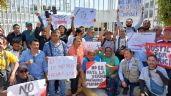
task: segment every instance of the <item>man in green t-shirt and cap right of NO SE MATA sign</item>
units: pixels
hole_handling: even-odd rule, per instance
[[[119,59],[110,47],[105,48],[105,52],[98,55],[102,62],[106,62],[106,78],[107,78],[107,93],[108,96],[116,96],[118,83],[118,65]]]

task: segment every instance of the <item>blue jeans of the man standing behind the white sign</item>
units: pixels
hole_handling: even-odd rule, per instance
[[[60,96],[65,96],[65,80],[59,80],[59,87],[60,87]],[[55,80],[49,80],[49,96],[56,96],[56,90],[55,90]]]

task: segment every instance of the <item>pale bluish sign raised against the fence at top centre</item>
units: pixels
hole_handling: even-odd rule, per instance
[[[76,26],[94,26],[96,10],[92,8],[75,7],[74,16]]]

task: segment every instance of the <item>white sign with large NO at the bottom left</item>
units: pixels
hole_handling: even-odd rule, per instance
[[[46,96],[45,79],[10,86],[7,96]]]

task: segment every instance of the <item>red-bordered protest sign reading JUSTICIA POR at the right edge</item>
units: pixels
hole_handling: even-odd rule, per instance
[[[146,43],[146,53],[155,54],[160,66],[171,69],[171,44]]]

